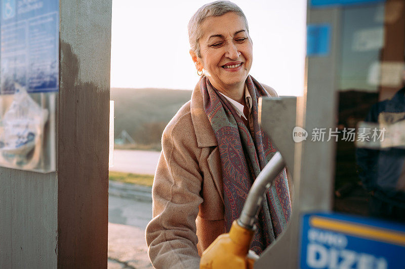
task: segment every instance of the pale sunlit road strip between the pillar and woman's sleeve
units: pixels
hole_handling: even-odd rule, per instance
[[[154,175],[160,152],[114,149],[110,171]]]

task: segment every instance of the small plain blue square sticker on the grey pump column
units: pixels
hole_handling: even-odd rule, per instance
[[[307,26],[307,56],[328,56],[330,45],[331,26],[329,24]]]

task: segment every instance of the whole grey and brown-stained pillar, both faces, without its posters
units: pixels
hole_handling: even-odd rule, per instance
[[[60,0],[57,171],[0,167],[0,268],[106,268],[110,0]]]

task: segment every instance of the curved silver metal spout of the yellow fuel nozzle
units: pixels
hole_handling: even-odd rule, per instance
[[[244,208],[237,220],[239,226],[249,230],[254,229],[264,195],[270,188],[271,183],[285,166],[286,164],[280,152],[276,152],[253,183]]]

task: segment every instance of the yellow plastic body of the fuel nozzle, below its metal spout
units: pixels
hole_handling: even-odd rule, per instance
[[[251,257],[249,247],[255,231],[232,223],[229,234],[222,234],[203,252],[200,269],[253,268],[256,257]]]

